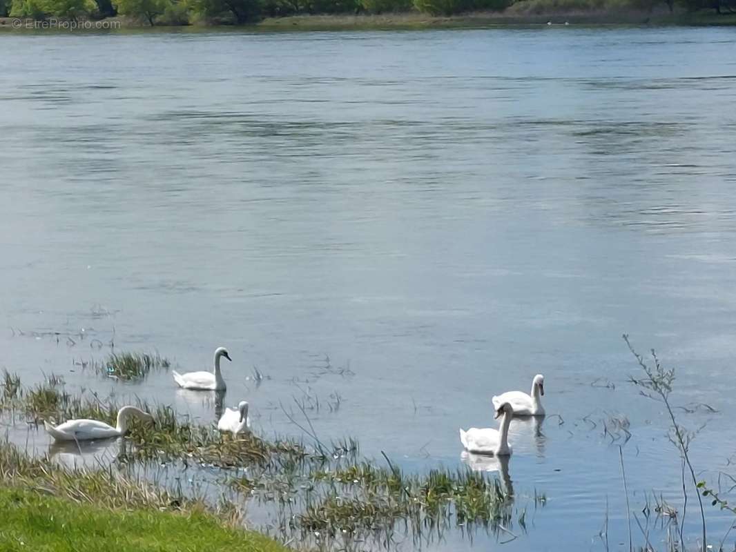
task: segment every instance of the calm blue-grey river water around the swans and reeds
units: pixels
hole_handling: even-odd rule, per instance
[[[322,439],[424,470],[461,464],[458,428],[541,372],[559,417],[512,425],[527,531],[431,548],[601,551],[607,511],[623,550],[624,439],[605,420],[629,420],[631,511],[643,523],[645,493],[682,508],[626,332],[677,367],[673,401],[694,410],[677,412],[705,424],[699,476],[736,476],[733,29],[0,43],[0,367],[24,383],[54,372],[210,422],[208,395],[165,372],[126,384],[75,363],[113,339],[206,369],[224,345],[225,402],[249,400],[256,431],[301,435],[280,404],[308,394]],[[730,519],[708,514],[717,545]],[[694,546],[692,501],[687,519]]]

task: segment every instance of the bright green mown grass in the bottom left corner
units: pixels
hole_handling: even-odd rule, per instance
[[[0,487],[0,550],[34,552],[282,552],[203,512],[113,511],[26,489]]]

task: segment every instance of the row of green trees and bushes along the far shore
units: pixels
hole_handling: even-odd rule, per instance
[[[0,0],[0,17],[102,19],[124,15],[146,24],[248,24],[301,14],[385,14],[419,11],[453,15],[509,10],[536,15],[585,10],[642,10],[658,5],[687,11],[736,13],[736,0]]]

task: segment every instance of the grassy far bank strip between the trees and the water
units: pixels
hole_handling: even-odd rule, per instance
[[[22,20],[31,21],[31,20]],[[51,21],[49,24],[48,22]],[[55,22],[54,22],[55,21]],[[433,16],[418,12],[386,13],[381,15],[287,15],[279,18],[264,18],[257,23],[234,26],[214,22],[175,26],[157,24],[153,27],[124,17],[105,18],[99,21],[87,20],[69,23],[57,19],[47,20],[46,24],[18,24],[18,18],[0,18],[0,31],[40,32],[58,30],[105,30],[126,29],[241,29],[243,31],[299,32],[299,31],[342,31],[342,30],[422,30],[422,29],[473,29],[514,26],[734,26],[736,14],[718,15],[712,12],[666,13],[664,11],[647,13],[636,10],[576,10],[551,13],[520,13],[514,10],[504,12],[476,12],[450,16]],[[71,25],[71,26],[70,26]]]

